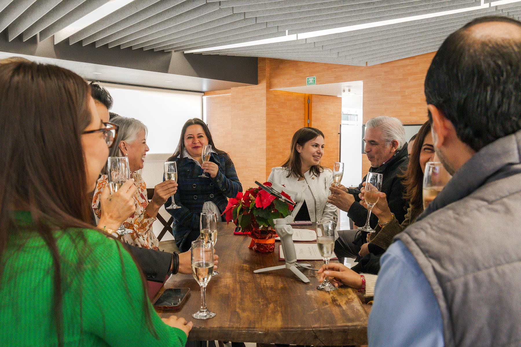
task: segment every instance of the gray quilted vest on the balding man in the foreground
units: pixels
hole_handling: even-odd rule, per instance
[[[440,306],[445,346],[521,345],[521,131],[482,148],[395,237]]]

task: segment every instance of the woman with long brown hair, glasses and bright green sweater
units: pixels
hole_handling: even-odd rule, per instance
[[[192,323],[162,321],[131,255],[89,225],[85,197],[107,160],[110,129],[77,74],[23,61],[0,65],[2,345],[187,341]]]

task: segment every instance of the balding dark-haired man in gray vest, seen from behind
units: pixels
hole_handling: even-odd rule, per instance
[[[521,22],[452,33],[425,79],[451,181],[381,258],[369,345],[521,345]]]

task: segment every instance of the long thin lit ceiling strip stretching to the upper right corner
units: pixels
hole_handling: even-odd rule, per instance
[[[362,30],[362,29],[367,29],[367,28],[383,27],[385,25],[411,22],[414,20],[420,20],[420,19],[426,19],[426,18],[454,15],[454,14],[461,13],[461,12],[475,11],[475,10],[479,10],[479,9],[483,9],[483,8],[489,8],[490,6],[510,4],[510,3],[515,3],[515,2],[521,2],[521,0],[501,0],[501,1],[495,1],[492,3],[485,3],[482,0],[481,5],[474,6],[474,7],[460,8],[460,9],[455,9],[455,10],[441,11],[441,12],[435,12],[435,13],[430,13],[430,14],[425,14],[425,15],[396,18],[396,19],[390,19],[390,20],[382,20],[382,21],[373,22],[373,23],[349,25],[348,27],[317,30],[317,31],[311,31],[311,32],[302,33],[302,34],[294,34],[294,35],[286,35],[286,36],[276,37],[276,38],[268,38],[267,40],[249,41],[249,42],[243,42],[243,43],[226,45],[226,46],[192,49],[192,50],[186,50],[184,53],[201,53],[201,52],[208,52],[210,50],[219,50],[219,49],[227,49],[227,48],[235,48],[235,47],[247,47],[247,46],[263,45],[263,44],[267,44],[267,43],[301,40],[303,38],[309,38],[309,37],[325,36],[325,35],[338,34],[338,33],[355,31],[355,30]]]

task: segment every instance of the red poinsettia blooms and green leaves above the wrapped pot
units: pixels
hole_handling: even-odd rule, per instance
[[[265,182],[264,185],[271,187],[270,182]],[[291,200],[285,192],[282,191],[281,194]],[[237,197],[230,198],[223,214],[228,223],[233,221],[244,232],[249,232],[252,229],[275,228],[273,220],[284,218],[291,211],[293,205],[278,199],[264,189],[250,188],[244,193],[238,192]]]

